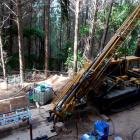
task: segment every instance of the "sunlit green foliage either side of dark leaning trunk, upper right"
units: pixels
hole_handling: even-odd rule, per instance
[[[122,25],[125,19],[131,14],[135,9],[135,5],[130,3],[123,3],[122,5],[114,4],[112,7],[112,14],[109,22],[109,33],[115,33],[116,30]],[[108,14],[108,6],[104,10],[98,12],[98,20],[96,26],[96,39],[101,40],[104,24],[106,22],[106,17]]]

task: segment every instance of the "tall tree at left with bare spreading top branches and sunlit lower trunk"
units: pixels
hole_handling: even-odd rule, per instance
[[[13,3],[11,9],[11,3],[4,1],[3,4],[13,14],[13,20],[17,24],[18,28],[18,47],[19,47],[19,71],[20,71],[20,82],[23,85],[24,82],[24,44],[23,44],[23,18],[26,17],[30,12],[31,3],[33,0],[9,0]],[[9,6],[10,4],[10,6]]]

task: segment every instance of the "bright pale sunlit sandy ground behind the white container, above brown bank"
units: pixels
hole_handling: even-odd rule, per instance
[[[23,87],[34,84],[46,83],[51,85],[55,92],[58,92],[68,81],[69,78],[67,76],[51,75],[47,80],[44,81],[29,83],[26,82],[24,83]],[[8,84],[7,86],[4,82],[0,82],[0,100],[25,94],[25,90],[21,89],[22,88],[19,86],[19,84]]]

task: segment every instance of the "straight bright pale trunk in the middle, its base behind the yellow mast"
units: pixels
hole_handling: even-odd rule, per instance
[[[75,11],[75,31],[74,31],[74,67],[73,71],[77,72],[77,61],[78,61],[78,25],[79,25],[79,11],[80,11],[80,0],[76,1]]]

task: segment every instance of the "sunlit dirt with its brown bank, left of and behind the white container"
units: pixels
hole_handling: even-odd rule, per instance
[[[40,82],[24,83],[24,87],[21,88],[18,84],[7,85],[4,82],[0,82],[0,113],[9,112],[22,107],[33,106],[29,103],[28,94],[26,94],[30,87],[34,84],[46,83],[53,87],[56,94],[60,94],[61,88],[69,81],[69,78],[63,75],[51,75],[47,80]],[[22,97],[23,96],[23,97]],[[15,97],[21,97],[17,99]]]

